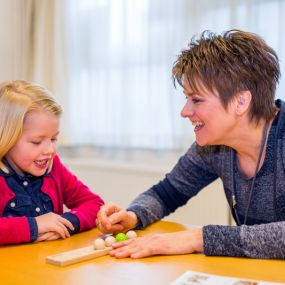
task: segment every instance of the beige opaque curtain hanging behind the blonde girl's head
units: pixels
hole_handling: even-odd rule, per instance
[[[68,99],[63,1],[0,0],[0,81],[27,80],[51,90],[63,105]],[[63,116],[64,143],[68,137]]]

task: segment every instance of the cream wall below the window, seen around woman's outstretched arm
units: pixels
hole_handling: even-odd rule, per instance
[[[62,158],[65,165],[105,202],[127,207],[141,192],[162,179],[170,165]],[[220,181],[205,188],[187,205],[165,218],[193,225],[228,224],[229,210]]]

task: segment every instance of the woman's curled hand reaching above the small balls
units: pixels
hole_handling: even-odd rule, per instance
[[[113,203],[108,203],[100,208],[96,225],[102,233],[126,232],[138,223],[134,212],[126,211]]]

